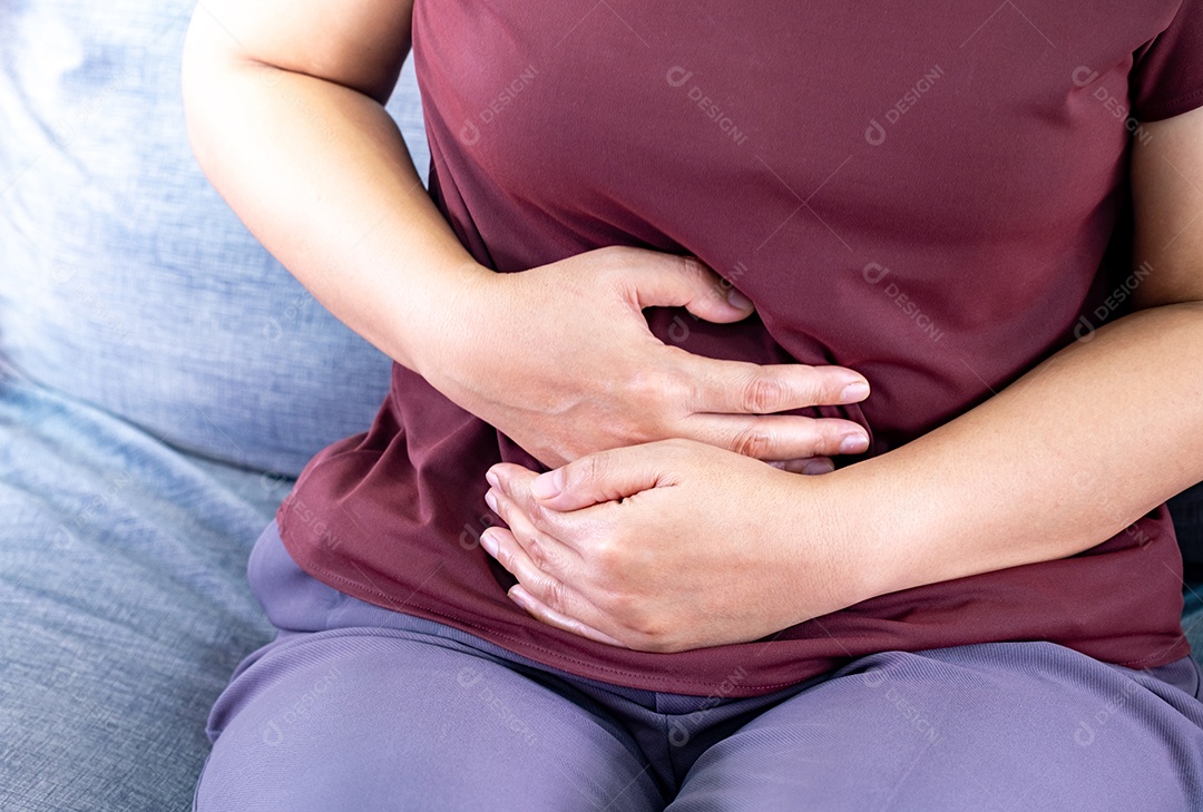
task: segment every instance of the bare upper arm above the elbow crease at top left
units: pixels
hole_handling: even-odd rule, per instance
[[[414,0],[205,0],[185,70],[259,63],[389,99],[409,54]]]

